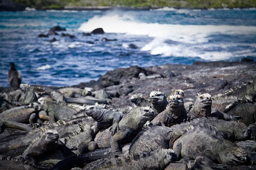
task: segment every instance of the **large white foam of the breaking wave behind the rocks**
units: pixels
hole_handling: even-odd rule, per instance
[[[145,35],[153,37],[154,40],[146,42],[141,51],[148,51],[151,55],[162,55],[163,57],[201,57],[207,60],[228,59],[236,54],[236,51],[214,51],[210,50],[209,42],[212,35],[218,34],[256,34],[255,26],[213,26],[213,25],[175,25],[159,23],[141,23],[133,17],[107,14],[102,17],[93,17],[87,23],[83,23],[79,30],[92,31],[95,28],[103,28],[106,33],[122,33],[133,35]],[[174,44],[167,43],[172,40]],[[209,43],[208,43],[209,42]],[[232,43],[230,43],[231,45]],[[205,46],[205,50],[201,45]],[[207,45],[209,45],[207,47]],[[220,44],[219,48],[223,48]],[[232,44],[231,47],[236,47]],[[247,44],[248,45],[248,44]],[[254,44],[255,45],[255,44]],[[125,45],[123,45],[125,47]],[[244,51],[243,55],[251,54],[252,51]]]

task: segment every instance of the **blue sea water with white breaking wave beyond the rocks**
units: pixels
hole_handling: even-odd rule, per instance
[[[76,37],[37,37],[57,25]],[[82,35],[95,28],[106,34]],[[54,37],[56,42],[48,42]],[[117,41],[102,42],[104,37]],[[129,48],[131,43],[139,48]],[[9,86],[9,62],[15,62],[23,83],[64,86],[131,65],[243,57],[256,59],[255,8],[0,12],[1,87]]]

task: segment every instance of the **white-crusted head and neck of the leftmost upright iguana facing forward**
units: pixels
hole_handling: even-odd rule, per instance
[[[158,91],[151,91],[149,96],[151,108],[155,111],[156,115],[166,109],[166,106],[168,105],[166,94],[158,89]]]

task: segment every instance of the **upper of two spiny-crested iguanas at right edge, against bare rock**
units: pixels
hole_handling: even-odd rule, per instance
[[[224,95],[237,96],[240,99],[244,98],[245,96],[249,96],[250,99],[256,99],[256,82],[244,82],[244,85],[242,86],[231,88],[225,91]]]

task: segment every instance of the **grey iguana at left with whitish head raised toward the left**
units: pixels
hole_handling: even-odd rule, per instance
[[[70,116],[73,116],[77,111],[67,105],[54,102],[47,97],[41,97],[38,102],[42,105],[44,111],[49,114],[50,122],[56,122],[57,120],[63,120]]]

